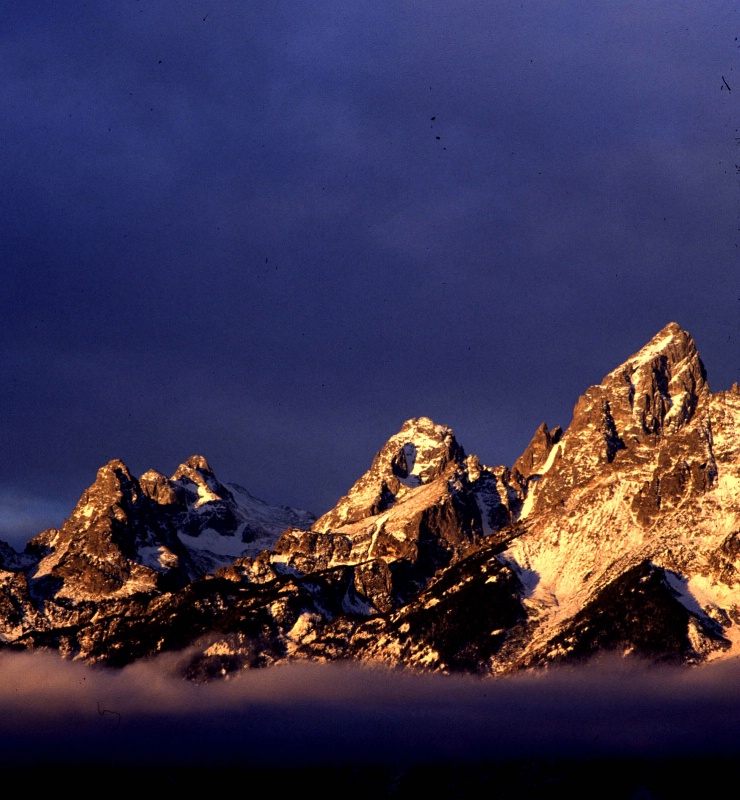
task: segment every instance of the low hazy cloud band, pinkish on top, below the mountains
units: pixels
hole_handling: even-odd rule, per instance
[[[736,756],[740,675],[619,660],[499,680],[298,664],[196,686],[176,659],[122,672],[0,657],[0,759],[249,766]]]

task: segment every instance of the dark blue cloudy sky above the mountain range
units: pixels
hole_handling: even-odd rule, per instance
[[[0,537],[111,458],[316,513],[412,416],[510,465],[670,321],[729,388],[738,36],[720,2],[9,6]]]

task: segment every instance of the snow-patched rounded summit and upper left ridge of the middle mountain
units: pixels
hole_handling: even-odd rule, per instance
[[[450,465],[462,467],[465,452],[452,429],[429,417],[406,420],[378,451],[370,469],[337,505],[314,523],[326,532],[384,511],[396,499],[442,475]]]

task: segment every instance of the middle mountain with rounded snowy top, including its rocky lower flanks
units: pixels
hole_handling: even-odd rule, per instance
[[[365,610],[388,611],[511,522],[520,493],[508,470],[466,457],[449,428],[411,419],[310,532],[283,534],[272,561],[294,574],[352,566]]]

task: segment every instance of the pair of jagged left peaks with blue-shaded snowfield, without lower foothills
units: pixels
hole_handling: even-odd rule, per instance
[[[187,459],[173,478],[150,469],[138,480],[114,459],[98,470],[61,529],[29,543],[38,561],[33,591],[72,604],[169,591],[246,550],[272,547],[289,525],[313,519],[237,487],[232,492],[202,456]]]

